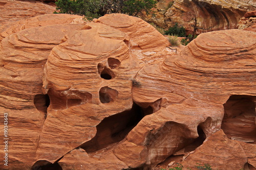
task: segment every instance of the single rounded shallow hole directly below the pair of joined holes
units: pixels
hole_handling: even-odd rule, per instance
[[[99,100],[101,103],[114,102],[117,99],[118,91],[108,86],[101,87],[99,90]]]

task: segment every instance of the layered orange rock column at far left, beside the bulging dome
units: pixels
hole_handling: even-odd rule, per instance
[[[0,43],[0,110],[9,113],[10,122],[13,121],[9,128],[15,129],[9,131],[8,153],[12,155],[9,163],[16,162],[8,166],[10,169],[19,166],[30,169],[33,165],[49,106],[49,97],[41,90],[45,63],[52,48],[63,42],[62,38],[68,32],[82,28],[82,25],[71,24],[67,15],[66,20],[62,17],[59,25],[51,25],[54,21],[51,18],[55,16],[43,15],[25,20],[30,24],[20,26],[17,29],[21,31],[15,31]],[[50,25],[42,26],[46,22],[40,20]]]

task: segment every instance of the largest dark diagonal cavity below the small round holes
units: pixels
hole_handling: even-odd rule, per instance
[[[142,118],[143,110],[134,103],[131,110],[104,118],[96,127],[95,137],[83,143],[80,148],[92,153],[117,143],[124,139]]]

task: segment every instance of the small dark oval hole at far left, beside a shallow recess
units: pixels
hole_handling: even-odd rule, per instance
[[[47,108],[50,105],[50,98],[48,94],[36,94],[34,96],[34,105],[40,112],[47,113]]]

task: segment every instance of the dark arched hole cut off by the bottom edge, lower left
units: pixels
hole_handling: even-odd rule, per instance
[[[31,170],[62,170],[62,168],[57,162],[51,163],[47,160],[39,160],[34,163]]]

